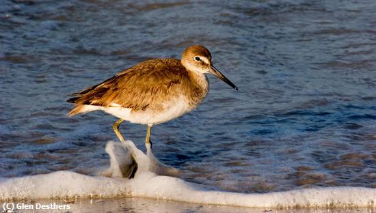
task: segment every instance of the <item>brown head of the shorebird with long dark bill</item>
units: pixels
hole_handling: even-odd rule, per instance
[[[217,76],[222,81],[226,82],[232,88],[238,90],[238,87],[235,86],[230,80],[221,74],[211,63],[211,53],[207,48],[200,45],[189,46],[185,49],[182,57],[181,63],[183,66],[190,71],[199,72],[202,74],[210,73]]]

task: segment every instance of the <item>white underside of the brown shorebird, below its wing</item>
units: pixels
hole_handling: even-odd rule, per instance
[[[174,100],[170,100],[163,104],[163,110],[153,111],[152,109],[145,109],[144,111],[132,111],[130,108],[122,107],[105,107],[105,106],[85,106],[86,112],[94,110],[103,110],[113,116],[119,117],[126,121],[135,124],[161,124],[168,122],[176,117],[180,117],[185,113],[195,109],[195,106],[189,106],[185,98],[179,97]]]

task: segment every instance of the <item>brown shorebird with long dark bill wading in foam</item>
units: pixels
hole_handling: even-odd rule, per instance
[[[181,59],[150,59],[123,70],[115,76],[71,94],[74,103],[68,116],[91,111],[105,111],[118,121],[113,131],[120,141],[124,137],[119,126],[124,121],[147,126],[145,145],[151,152],[151,128],[196,109],[209,91],[206,74],[238,90],[211,61],[211,53],[201,45],[183,51]]]

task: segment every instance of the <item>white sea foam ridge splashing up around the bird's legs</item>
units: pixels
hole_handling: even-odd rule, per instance
[[[258,208],[290,207],[376,207],[376,189],[362,187],[307,188],[286,192],[245,194],[209,190],[191,184],[175,175],[176,169],[161,165],[152,153],[136,150],[131,141],[109,142],[111,167],[103,176],[88,176],[71,171],[57,171],[45,175],[32,175],[0,179],[0,200],[42,199],[66,197],[148,197],[214,205],[238,205]],[[139,170],[134,179],[122,174],[135,154]]]

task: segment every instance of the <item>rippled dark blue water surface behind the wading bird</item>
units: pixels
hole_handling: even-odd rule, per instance
[[[70,94],[203,44],[238,87],[209,76],[196,109],[155,126],[182,177],[264,193],[376,188],[375,1],[0,2],[0,174],[109,165],[115,117],[66,117]],[[144,147],[145,126],[124,123]]]

